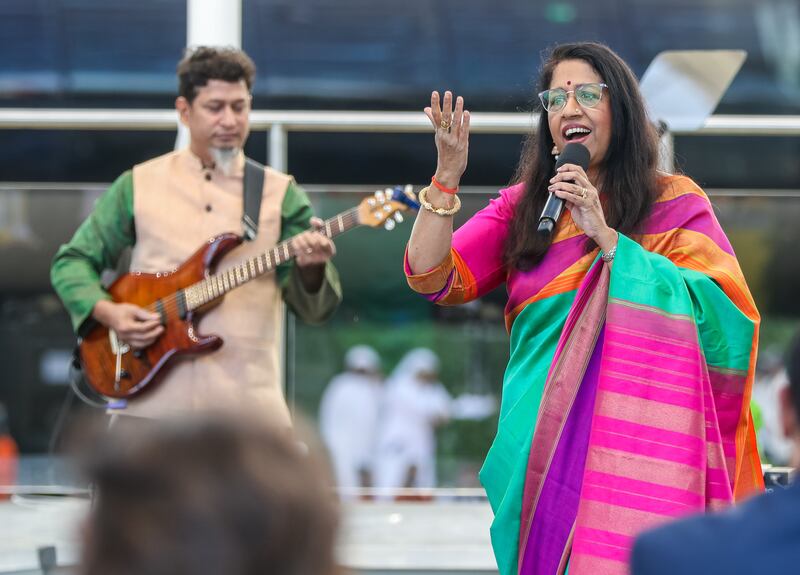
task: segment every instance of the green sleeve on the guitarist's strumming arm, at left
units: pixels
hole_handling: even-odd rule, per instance
[[[80,333],[101,299],[111,299],[100,275],[116,267],[123,250],[134,244],[133,175],[122,174],[97,200],[72,239],[53,258],[50,281],[64,302],[72,327]]]

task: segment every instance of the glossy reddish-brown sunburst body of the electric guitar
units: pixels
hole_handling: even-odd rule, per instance
[[[157,383],[177,356],[219,348],[222,338],[200,335],[196,325],[202,313],[219,304],[220,300],[186,311],[175,296],[212,273],[222,256],[241,242],[236,234],[222,234],[209,240],[175,271],[133,272],[117,279],[108,289],[113,300],[143,308],[155,304],[165,330],[149,347],[133,350],[118,343],[111,330],[97,324],[79,344],[81,363],[89,385],[107,397],[129,398]]]

